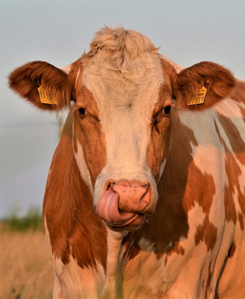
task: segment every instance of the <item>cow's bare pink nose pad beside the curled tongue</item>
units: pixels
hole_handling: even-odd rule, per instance
[[[119,195],[119,209],[131,213],[144,213],[150,203],[149,183],[138,181],[111,182],[110,188]]]

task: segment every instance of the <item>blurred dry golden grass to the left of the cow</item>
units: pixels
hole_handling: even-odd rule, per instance
[[[42,231],[2,231],[0,298],[52,298],[53,270]]]

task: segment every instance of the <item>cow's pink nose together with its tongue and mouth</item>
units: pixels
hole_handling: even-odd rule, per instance
[[[139,181],[108,182],[98,200],[96,212],[111,228],[135,230],[152,212],[152,190],[149,183]]]

